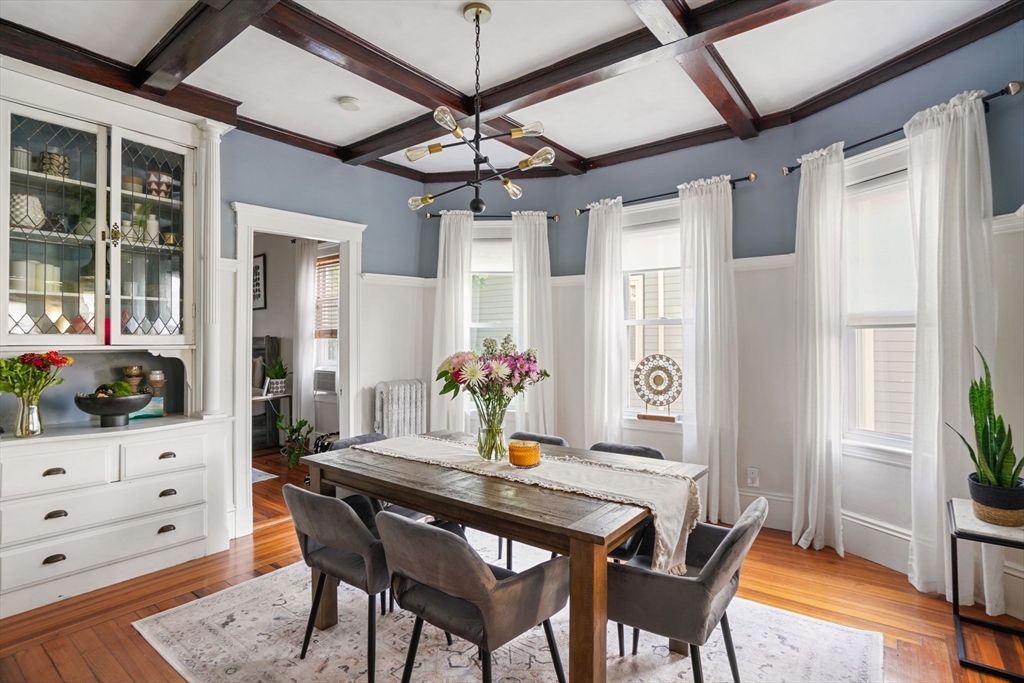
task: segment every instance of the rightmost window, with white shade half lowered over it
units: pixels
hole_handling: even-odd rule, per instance
[[[918,284],[905,143],[890,146],[888,155],[868,153],[873,169],[847,167],[845,431],[905,449],[913,427]]]

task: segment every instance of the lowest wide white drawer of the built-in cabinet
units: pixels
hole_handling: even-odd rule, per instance
[[[0,552],[0,592],[206,537],[206,506]]]

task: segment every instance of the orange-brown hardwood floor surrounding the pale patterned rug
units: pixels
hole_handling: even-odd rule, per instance
[[[291,523],[267,524],[232,541],[223,553],[0,621],[0,681],[180,681],[132,622],[300,560]],[[887,681],[1001,680],[959,668],[944,600],[922,595],[905,575],[858,557],[796,548],[788,533],[761,533],[743,567],[739,595],[881,631]],[[968,634],[970,654],[1024,671],[1020,639],[973,628]],[[295,649],[297,654],[298,642]]]

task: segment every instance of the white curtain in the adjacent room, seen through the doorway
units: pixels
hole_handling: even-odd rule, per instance
[[[295,421],[313,418],[313,370],[316,367],[316,241],[295,242],[295,343],[292,396]]]

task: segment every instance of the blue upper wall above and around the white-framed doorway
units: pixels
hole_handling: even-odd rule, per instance
[[[422,183],[238,130],[221,142],[221,256],[237,253],[230,203],[244,202],[366,223],[365,272],[420,273],[420,217],[406,202]]]

